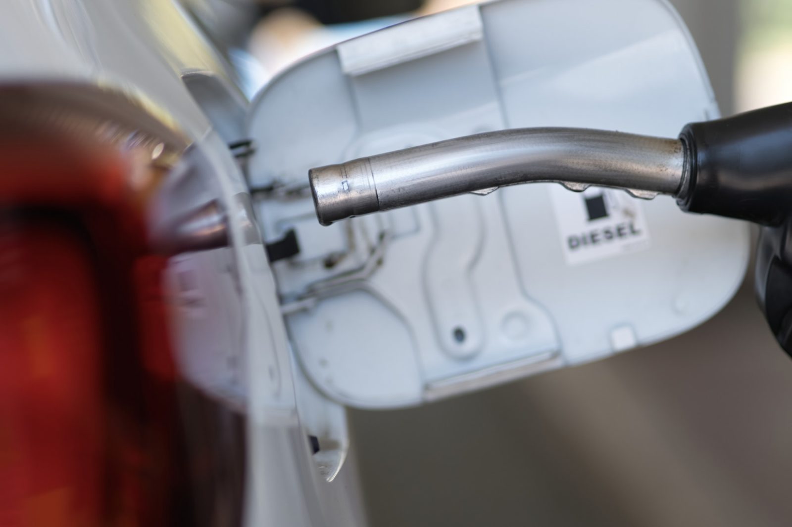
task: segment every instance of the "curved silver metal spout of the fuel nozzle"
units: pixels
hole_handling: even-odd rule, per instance
[[[523,128],[469,135],[311,169],[322,225],[505,185],[558,181],[676,194],[685,173],[679,139],[580,128]]]

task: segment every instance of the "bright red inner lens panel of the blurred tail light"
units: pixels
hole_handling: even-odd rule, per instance
[[[103,525],[101,309],[86,241],[0,224],[2,525]]]

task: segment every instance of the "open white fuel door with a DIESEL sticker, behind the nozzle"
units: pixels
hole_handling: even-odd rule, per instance
[[[325,227],[308,169],[506,128],[667,136],[717,114],[656,0],[467,6],[293,66],[254,101],[248,169],[266,241],[298,246],[272,267],[307,378],[342,404],[398,408],[602,358],[706,320],[748,256],[740,223],[558,184]]]

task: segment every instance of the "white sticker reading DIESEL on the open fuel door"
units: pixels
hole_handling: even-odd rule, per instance
[[[609,188],[573,192],[558,184],[549,189],[567,264],[649,248],[649,227],[639,199]]]

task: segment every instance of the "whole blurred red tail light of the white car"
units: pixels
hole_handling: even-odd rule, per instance
[[[178,523],[164,260],[147,252],[143,221],[158,183],[150,146],[10,131],[0,127],[0,525]]]

